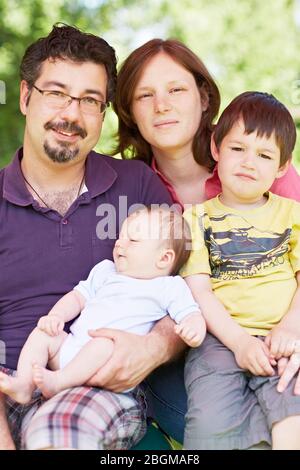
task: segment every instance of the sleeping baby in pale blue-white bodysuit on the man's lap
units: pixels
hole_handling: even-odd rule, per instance
[[[108,338],[92,339],[89,330],[109,327],[146,334],[166,312],[181,324],[182,339],[199,345],[204,319],[184,280],[175,276],[189,256],[188,242],[188,226],[178,213],[144,209],[129,216],[115,244],[114,263],[97,264],[86,281],[40,318],[22,349],[16,377],[0,373],[0,390],[26,403],[36,386],[50,398],[82,385],[114,347]],[[80,312],[67,334],[65,323]]]

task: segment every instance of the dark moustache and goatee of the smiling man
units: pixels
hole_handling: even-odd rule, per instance
[[[82,129],[79,125],[72,123],[72,122],[52,122],[49,121],[45,124],[45,129],[46,130],[56,130],[56,131],[63,131],[63,132],[74,132],[78,134],[81,138],[85,138],[87,136],[87,132]],[[72,144],[69,142],[60,142],[57,147],[50,147],[48,144],[47,140],[44,142],[44,151],[48,157],[56,163],[65,163],[65,162],[70,162],[71,160],[74,160],[78,153],[79,153],[79,148],[70,148]]]

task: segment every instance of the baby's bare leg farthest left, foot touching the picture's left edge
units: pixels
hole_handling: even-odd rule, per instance
[[[36,387],[32,375],[33,365],[46,366],[66,337],[64,331],[58,336],[49,336],[35,328],[22,348],[16,376],[0,372],[0,390],[18,403],[28,403]]]

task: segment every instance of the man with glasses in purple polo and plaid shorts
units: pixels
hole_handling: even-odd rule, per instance
[[[16,368],[39,317],[96,263],[112,259],[127,216],[124,201],[127,208],[170,202],[143,163],[92,152],[115,81],[114,50],[66,25],[54,26],[22,60],[24,146],[0,172],[0,339],[6,350],[0,369],[6,373]],[[168,318],[144,337],[114,330],[94,335],[116,344],[91,380],[105,390],[77,387],[48,401],[36,393],[25,407],[1,395],[0,448],[124,449],[140,439],[141,392],[116,392],[141,382],[181,342]]]

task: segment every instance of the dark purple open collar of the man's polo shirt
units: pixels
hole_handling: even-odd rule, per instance
[[[12,162],[4,169],[3,197],[18,206],[28,206],[33,202],[26,188],[20,162],[23,148],[15,153]],[[90,152],[85,169],[85,185],[91,198],[106,192],[117,179],[117,172],[109,164],[108,157]]]

